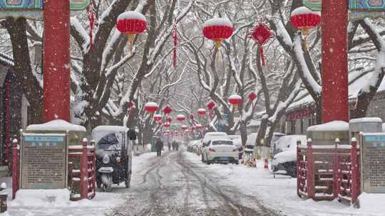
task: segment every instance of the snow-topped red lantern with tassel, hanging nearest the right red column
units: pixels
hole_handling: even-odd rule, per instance
[[[290,22],[302,32],[306,48],[309,29],[319,26],[319,23],[321,23],[321,13],[302,6],[292,11]]]

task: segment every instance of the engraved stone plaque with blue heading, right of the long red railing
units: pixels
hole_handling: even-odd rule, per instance
[[[361,141],[362,190],[385,193],[385,134],[364,134]]]

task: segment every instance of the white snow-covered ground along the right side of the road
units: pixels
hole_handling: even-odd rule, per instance
[[[232,185],[246,195],[258,195],[263,203],[284,215],[385,215],[385,194],[363,194],[360,196],[359,209],[334,201],[315,202],[302,200],[297,197],[297,178],[286,175],[272,175],[263,169],[263,161],[257,161],[257,168],[233,164],[205,165],[194,153],[185,152],[186,158],[193,161],[195,166],[201,166],[220,175],[219,184]]]

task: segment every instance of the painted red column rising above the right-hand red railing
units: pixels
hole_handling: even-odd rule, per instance
[[[349,121],[348,1],[322,0],[322,122]]]

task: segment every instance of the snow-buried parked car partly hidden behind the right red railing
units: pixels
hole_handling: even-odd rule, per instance
[[[304,135],[282,136],[275,142],[277,150],[281,151],[274,155],[272,160],[272,171],[286,171],[287,175],[297,177],[297,141],[306,144]]]

